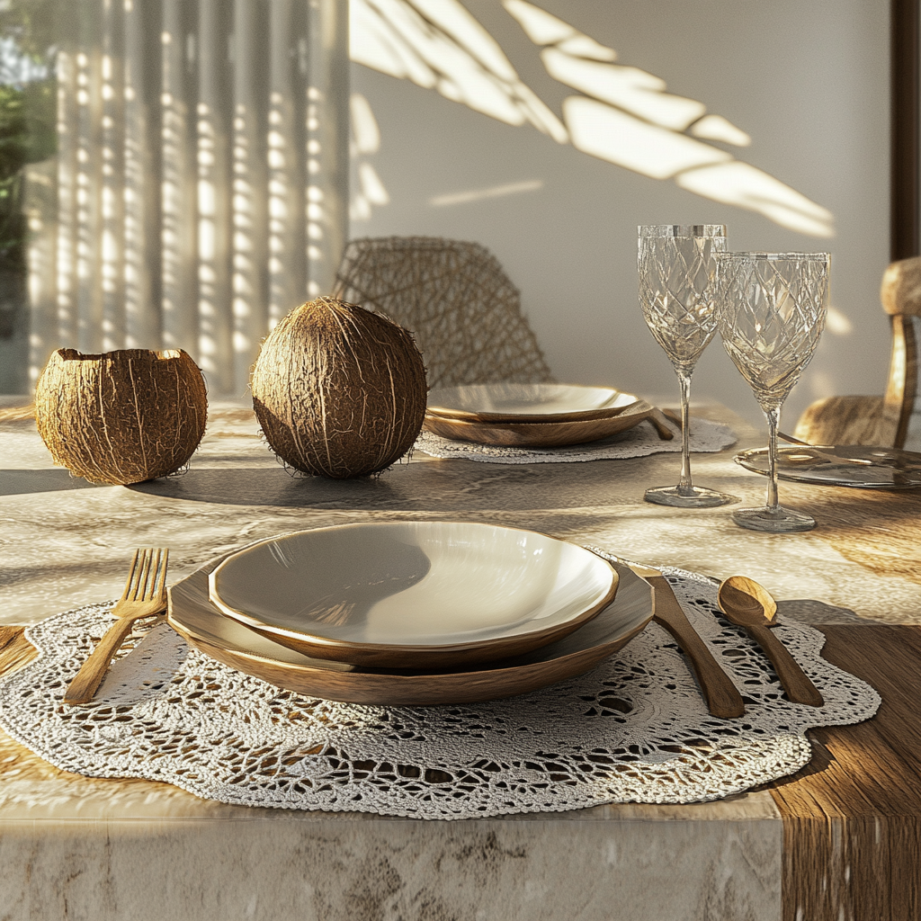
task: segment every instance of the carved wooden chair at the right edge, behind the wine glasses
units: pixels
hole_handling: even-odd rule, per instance
[[[921,317],[921,256],[892,262],[882,276],[882,309],[892,322],[889,381],[881,397],[828,397],[799,417],[795,437],[814,445],[881,445],[903,448],[915,410]]]

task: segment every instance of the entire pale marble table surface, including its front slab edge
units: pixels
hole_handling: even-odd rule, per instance
[[[0,624],[117,597],[132,549],[169,546],[170,576],[284,530],[466,519],[542,530],[649,564],[744,573],[816,624],[921,624],[921,491],[781,484],[819,521],[741,530],[728,509],[642,501],[675,454],[498,466],[419,453],[376,479],[289,476],[251,411],[213,407],[185,475],[93,486],[55,468],[29,421],[0,425]],[[764,436],[718,406],[738,448]],[[695,481],[761,504],[734,449]],[[844,609],[844,610],[842,610]],[[756,791],[711,804],[605,806],[480,822],[277,813],[137,780],[66,775],[0,734],[0,915],[10,918],[663,918],[782,916],[784,822]],[[10,907],[12,906],[12,907]]]

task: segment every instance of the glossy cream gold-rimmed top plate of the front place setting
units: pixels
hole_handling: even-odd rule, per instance
[[[439,668],[554,642],[610,603],[617,576],[576,544],[459,521],[298,531],[231,554],[211,600],[274,642],[355,665]]]

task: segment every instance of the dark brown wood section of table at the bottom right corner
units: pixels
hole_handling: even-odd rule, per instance
[[[921,627],[822,627],[822,651],[882,695],[876,717],[813,730],[770,785],[784,819],[784,921],[921,917]]]

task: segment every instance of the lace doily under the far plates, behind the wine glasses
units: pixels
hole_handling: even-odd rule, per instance
[[[461,461],[485,463],[574,463],[577,461],[616,461],[621,458],[640,458],[659,451],[681,451],[681,432],[670,441],[647,422],[628,428],[625,432],[590,441],[584,445],[565,448],[495,448],[477,445],[472,441],[455,441],[434,432],[422,432],[416,438],[414,449],[425,451],[437,458],[458,458]],[[736,437],[729,426],[708,419],[691,420],[691,450],[721,451],[734,444]]]

